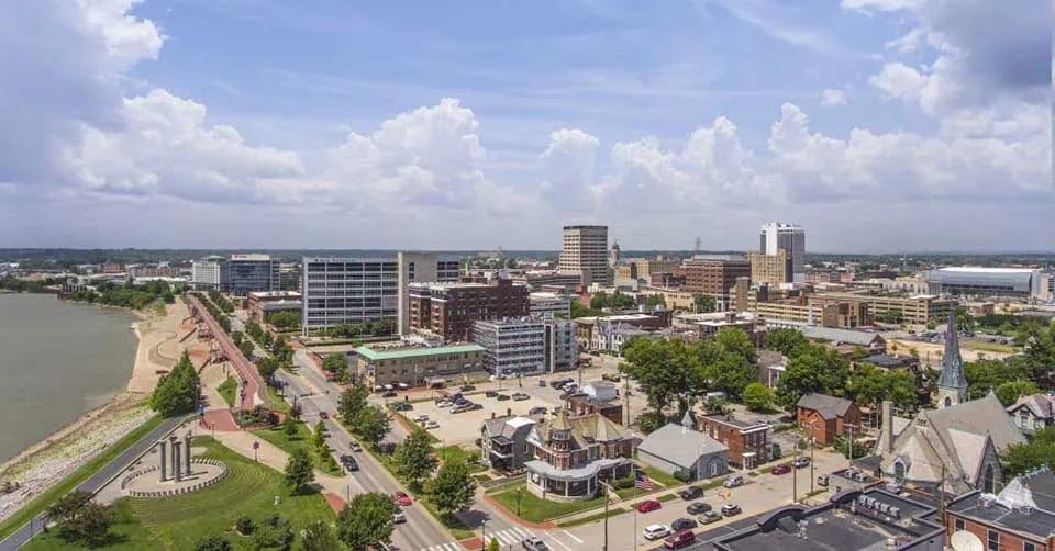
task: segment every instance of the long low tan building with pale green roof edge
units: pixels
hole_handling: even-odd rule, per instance
[[[429,347],[421,345],[366,345],[357,348],[358,376],[370,387],[465,384],[487,380],[485,350],[479,345]]]

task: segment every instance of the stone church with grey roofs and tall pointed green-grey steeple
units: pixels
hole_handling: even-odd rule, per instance
[[[890,403],[885,402],[876,456],[856,464],[887,479],[948,494],[992,493],[1002,482],[998,453],[1025,438],[992,392],[967,400],[955,313],[948,316],[945,335],[937,409],[921,411],[907,419],[895,417]]]

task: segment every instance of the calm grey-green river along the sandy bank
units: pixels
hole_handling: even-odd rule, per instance
[[[55,295],[0,294],[0,462],[125,389],[136,321]]]

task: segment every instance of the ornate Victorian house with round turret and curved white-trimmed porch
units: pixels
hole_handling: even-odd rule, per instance
[[[618,424],[598,414],[571,417],[566,409],[551,423],[535,424],[528,446],[528,490],[558,502],[596,496],[600,481],[631,472],[634,452],[633,437]]]

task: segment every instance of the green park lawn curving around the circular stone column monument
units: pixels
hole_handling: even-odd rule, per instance
[[[190,550],[207,536],[227,536],[236,543],[231,527],[243,515],[259,520],[271,514],[292,522],[298,533],[308,522],[333,522],[336,515],[320,494],[290,496],[282,476],[259,463],[224,448],[210,437],[198,437],[195,446],[204,446],[206,457],[222,460],[227,476],[216,485],[175,497],[118,499],[119,524],[112,532],[113,544],[103,549],[124,550]],[[278,505],[275,496],[281,496]],[[26,551],[82,549],[71,546],[54,533],[35,538]]]

